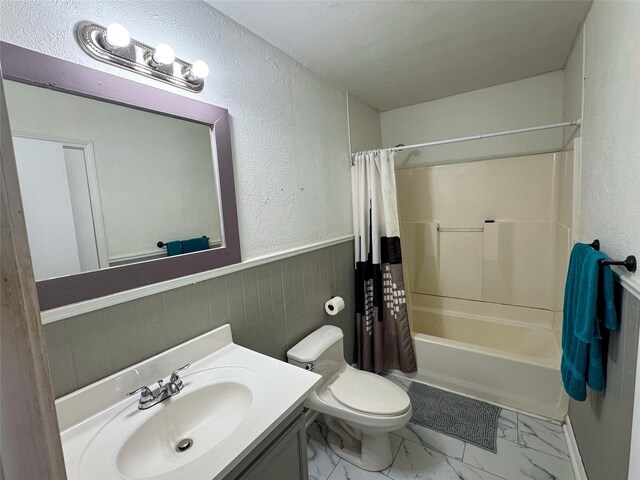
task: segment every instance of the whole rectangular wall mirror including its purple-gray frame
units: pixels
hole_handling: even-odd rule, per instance
[[[0,62],[41,310],[241,261],[226,109],[4,42]]]

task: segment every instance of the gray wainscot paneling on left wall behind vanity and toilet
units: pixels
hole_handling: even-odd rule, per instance
[[[225,323],[234,342],[285,360],[322,325],[345,333],[353,361],[353,242],[44,325],[56,397],[66,395]],[[345,299],[336,316],[332,295]]]

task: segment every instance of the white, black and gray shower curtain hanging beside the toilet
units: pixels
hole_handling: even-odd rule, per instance
[[[393,152],[356,154],[351,168],[356,338],[362,370],[416,371],[400,251]]]

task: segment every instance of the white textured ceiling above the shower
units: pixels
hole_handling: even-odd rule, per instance
[[[207,3],[381,111],[564,67],[591,1]]]

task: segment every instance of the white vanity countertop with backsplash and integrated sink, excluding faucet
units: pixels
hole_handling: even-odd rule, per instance
[[[147,410],[125,396],[186,363],[179,394]],[[67,476],[222,479],[321,378],[234,344],[222,326],[57,400]],[[181,436],[193,447],[176,453]]]

